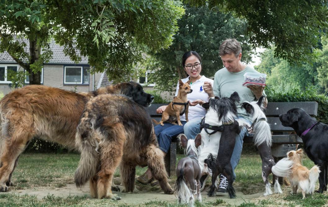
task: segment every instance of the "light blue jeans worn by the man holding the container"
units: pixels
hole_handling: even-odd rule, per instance
[[[252,125],[252,122],[249,121],[248,119],[245,119],[242,116],[237,116],[236,120],[238,119],[242,119],[244,122],[248,123],[249,126]],[[184,125],[184,133],[187,136],[188,139],[195,139],[195,136],[200,133],[200,120],[199,121],[189,121]],[[250,134],[248,133],[247,129],[245,127],[243,127],[240,130],[240,134],[238,134],[236,136],[236,144],[235,144],[235,148],[234,151],[232,153],[231,156],[231,166],[232,166],[232,170],[233,170],[233,176],[234,176],[234,180],[236,179],[236,173],[235,173],[235,168],[237,166],[237,164],[239,163],[240,160],[240,155],[241,155],[241,151],[243,150],[243,143],[244,143],[244,137],[245,136],[249,136]]]

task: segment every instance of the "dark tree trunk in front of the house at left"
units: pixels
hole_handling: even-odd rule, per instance
[[[30,65],[35,63],[41,54],[41,46],[37,44],[37,38],[30,38],[30,55],[31,55],[31,61]],[[41,71],[38,71],[37,73],[33,73],[32,69],[30,68],[30,65],[26,69],[29,72],[29,78],[30,78],[30,85],[40,85],[41,84]]]

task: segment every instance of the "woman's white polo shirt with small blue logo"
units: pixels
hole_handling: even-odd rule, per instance
[[[183,83],[185,83],[189,80],[189,76],[181,80]],[[197,99],[201,99],[204,100],[205,102],[208,102],[209,99],[208,94],[205,93],[205,91],[203,90],[204,81],[210,82],[213,86],[214,80],[210,78],[206,78],[205,76],[202,76],[201,78],[196,80],[196,82],[192,83],[190,86],[191,89],[193,89],[193,92],[187,95],[187,98],[190,102],[193,102]],[[179,82],[176,86],[175,96],[178,95],[178,91],[179,91]],[[189,112],[188,112],[189,121],[200,119],[201,117],[205,116],[205,114],[206,114],[206,110],[199,104],[197,104],[196,106],[189,106]],[[185,114],[180,116],[180,120],[186,121]]]

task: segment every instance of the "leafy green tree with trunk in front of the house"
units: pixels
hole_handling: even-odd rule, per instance
[[[88,56],[92,72],[109,68],[120,81],[133,74],[142,48],[171,44],[183,12],[174,0],[1,0],[0,52],[28,72],[30,84],[40,84],[53,38],[73,61]]]

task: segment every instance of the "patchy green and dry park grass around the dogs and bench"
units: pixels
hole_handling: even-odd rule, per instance
[[[184,157],[178,155],[177,160]],[[10,190],[33,189],[37,187],[60,188],[65,187],[69,183],[73,183],[75,169],[78,165],[80,155],[74,153],[67,154],[51,154],[51,153],[24,153],[21,155],[18,166],[13,173],[12,181],[14,186]],[[314,164],[306,156],[303,159],[303,164],[311,168]],[[259,155],[250,150],[244,151],[241,155],[240,162],[236,168],[236,182],[234,186],[244,194],[255,194],[264,192],[264,184],[261,178],[261,159]],[[136,168],[136,176],[142,175],[146,167]],[[117,169],[114,177],[119,177]],[[175,177],[170,178],[170,184],[174,184]],[[114,179],[116,184],[120,180]],[[272,181],[272,177],[270,178]],[[211,181],[208,179],[207,185]],[[318,183],[317,183],[318,185]],[[317,186],[318,188],[318,186]],[[161,192],[157,185],[150,188],[150,185],[138,185],[138,189],[147,192]],[[301,199],[301,193],[291,195],[290,186],[283,187],[283,195],[272,195],[269,197],[260,197],[248,200],[240,204],[240,207],[268,207],[268,206],[323,206],[328,204],[328,195],[314,194],[305,199]],[[68,196],[66,198],[47,195],[43,199],[38,199],[31,195],[17,194],[0,194],[0,206],[182,206],[176,202],[168,201],[151,201],[143,204],[126,204],[123,202],[115,202],[109,199],[92,199],[89,196]],[[202,203],[196,202],[197,207],[207,206],[234,206],[223,199],[205,201]]]

